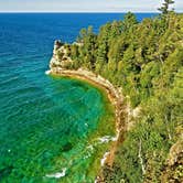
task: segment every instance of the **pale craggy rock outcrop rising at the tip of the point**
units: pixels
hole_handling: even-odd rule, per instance
[[[50,68],[64,68],[71,65],[72,62],[73,61],[68,56],[67,50],[65,49],[64,44],[60,40],[56,40],[54,42],[53,56],[50,62]]]

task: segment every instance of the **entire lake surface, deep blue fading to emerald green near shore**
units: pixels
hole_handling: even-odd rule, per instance
[[[115,136],[111,106],[94,86],[45,71],[54,40],[120,18],[0,14],[0,182],[94,182],[109,149],[100,138]]]

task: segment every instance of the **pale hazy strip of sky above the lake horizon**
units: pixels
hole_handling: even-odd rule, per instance
[[[157,12],[163,0],[0,0],[0,12]],[[183,12],[183,0],[175,0]]]

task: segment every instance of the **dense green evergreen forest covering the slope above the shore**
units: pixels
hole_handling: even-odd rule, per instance
[[[83,29],[77,44],[65,44],[67,68],[100,74],[141,109],[104,182],[183,182],[183,14],[159,10],[142,22],[129,12],[98,34]]]

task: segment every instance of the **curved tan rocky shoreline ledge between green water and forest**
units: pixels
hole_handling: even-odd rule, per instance
[[[105,164],[111,168],[114,164],[115,153],[116,153],[118,143],[121,142],[121,139],[123,139],[121,138],[121,136],[123,136],[123,133],[121,132],[125,132],[125,118],[123,118],[125,116],[122,114],[125,112],[123,106],[122,106],[123,96],[120,93],[120,90],[116,88],[109,80],[105,79],[100,75],[94,74],[93,72],[89,72],[83,68],[78,68],[77,71],[74,71],[74,69],[63,69],[61,67],[51,67],[51,69],[47,71],[45,74],[53,75],[53,76],[55,75],[55,76],[78,78],[78,79],[88,82],[92,85],[95,85],[96,87],[103,89],[107,94],[107,98],[109,99],[109,101],[115,108],[116,138],[114,140],[114,146],[110,148],[108,154],[107,155],[105,154],[104,158],[101,159],[103,164],[100,165],[101,165],[101,170]],[[101,177],[97,176],[98,181],[103,179],[103,173],[100,174],[101,174]]]

